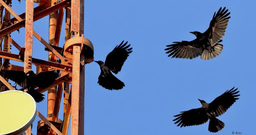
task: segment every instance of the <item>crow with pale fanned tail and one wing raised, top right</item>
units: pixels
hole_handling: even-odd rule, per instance
[[[214,13],[210,26],[204,33],[190,32],[196,36],[195,40],[173,42],[172,45],[166,45],[167,48],[164,50],[167,51],[166,54],[169,54],[168,57],[193,59],[201,56],[202,60],[210,60],[218,56],[223,49],[223,45],[219,43],[225,35],[228,19],[230,19],[229,14],[226,7],[220,8],[217,13]]]

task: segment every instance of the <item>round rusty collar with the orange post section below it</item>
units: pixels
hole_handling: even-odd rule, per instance
[[[77,33],[65,42],[64,56],[73,61],[71,134],[84,134],[84,64],[93,61],[92,42]]]

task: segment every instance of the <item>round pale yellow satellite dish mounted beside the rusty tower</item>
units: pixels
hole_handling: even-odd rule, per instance
[[[0,92],[0,135],[22,134],[36,117],[36,102],[26,92]]]

